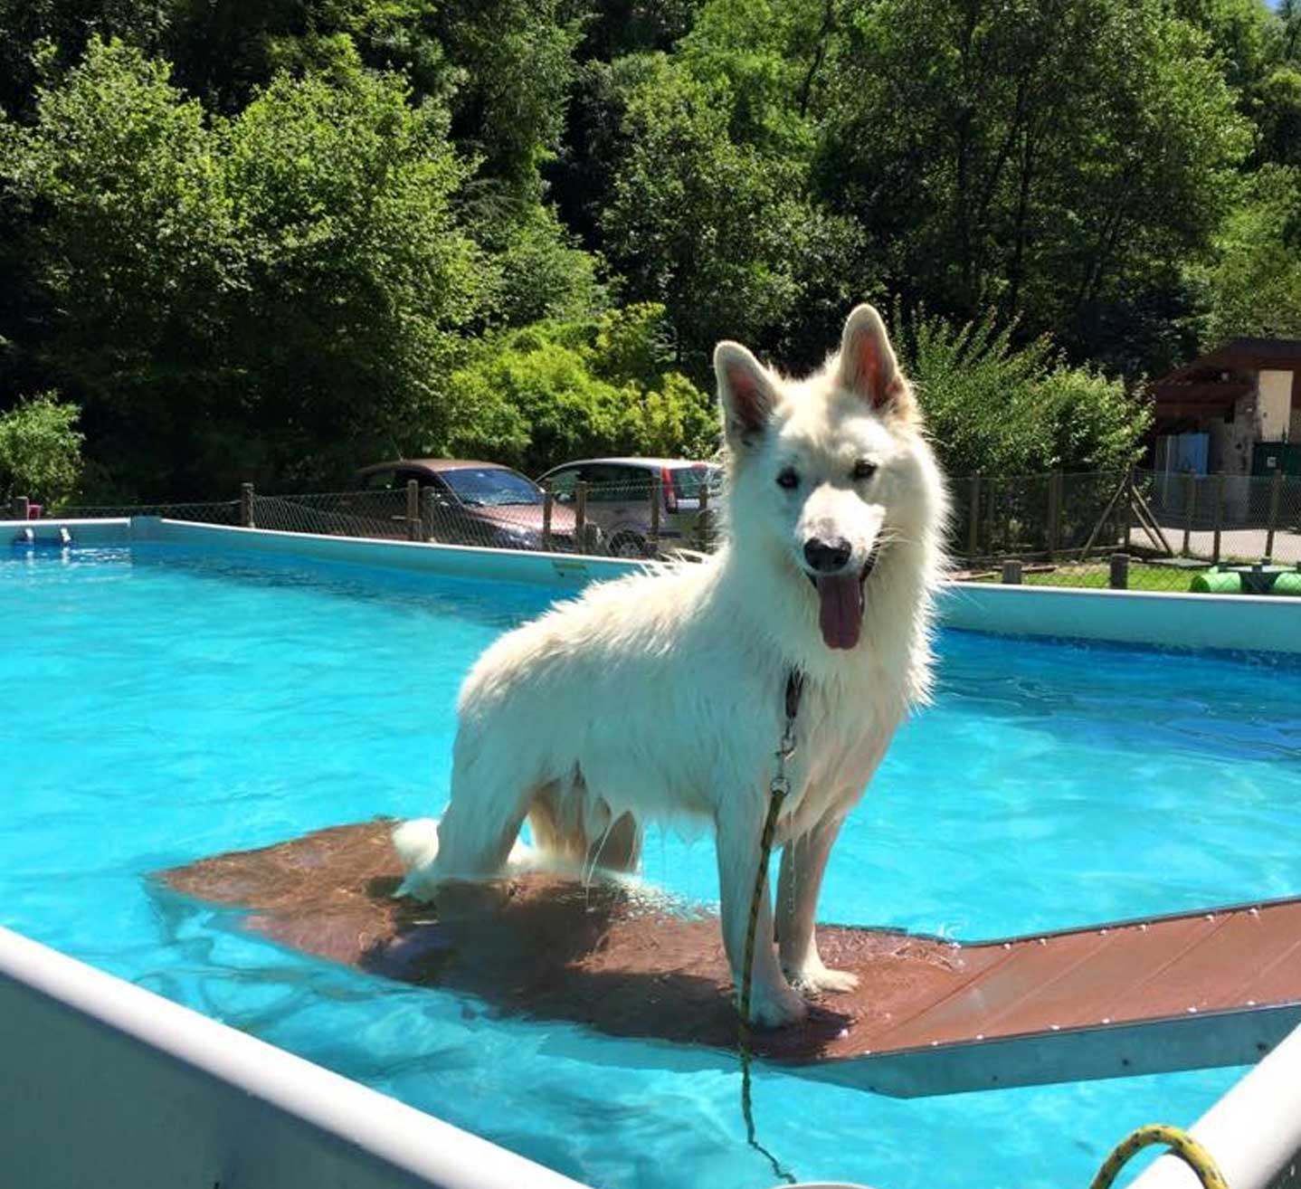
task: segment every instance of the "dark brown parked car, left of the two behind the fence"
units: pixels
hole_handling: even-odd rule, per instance
[[[363,467],[354,476],[364,505],[367,493],[405,490],[410,480],[433,492],[433,540],[448,545],[493,549],[543,548],[543,489],[531,479],[494,462],[467,458],[405,458]],[[379,502],[379,501],[377,501]],[[355,505],[354,505],[355,506]],[[392,516],[393,500],[384,500]],[[574,550],[574,510],[552,506],[552,548]]]

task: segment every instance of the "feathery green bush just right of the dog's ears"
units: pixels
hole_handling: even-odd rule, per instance
[[[1069,367],[1046,337],[1015,346],[993,312],[964,325],[919,315],[899,346],[951,475],[1114,471],[1140,453],[1150,421],[1142,402],[1116,380]]]

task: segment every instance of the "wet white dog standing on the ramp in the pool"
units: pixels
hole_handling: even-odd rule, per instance
[[[807,1015],[799,991],[856,982],[818,956],[818,890],[842,821],[926,699],[947,505],[870,306],[809,379],[734,342],[714,368],[727,545],[701,565],[593,585],[497,640],[461,691],[446,814],[394,842],[403,891],[431,899],[446,881],[500,874],[526,817],[546,857],[623,870],[644,820],[704,820],[739,986],[785,691],[801,673],[775,835],[777,946],[765,895],[753,964],[752,1019],[775,1026]]]

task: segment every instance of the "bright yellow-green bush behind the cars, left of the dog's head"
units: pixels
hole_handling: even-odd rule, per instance
[[[532,475],[591,455],[712,454],[713,401],[661,366],[662,323],[662,308],[641,306],[487,340],[453,377],[472,416],[431,448]]]

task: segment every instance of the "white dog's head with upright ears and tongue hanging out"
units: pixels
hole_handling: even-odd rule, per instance
[[[865,587],[891,550],[934,536],[942,489],[881,315],[859,306],[821,372],[788,380],[714,351],[736,549],[766,553],[817,600],[827,648],[859,643]]]

